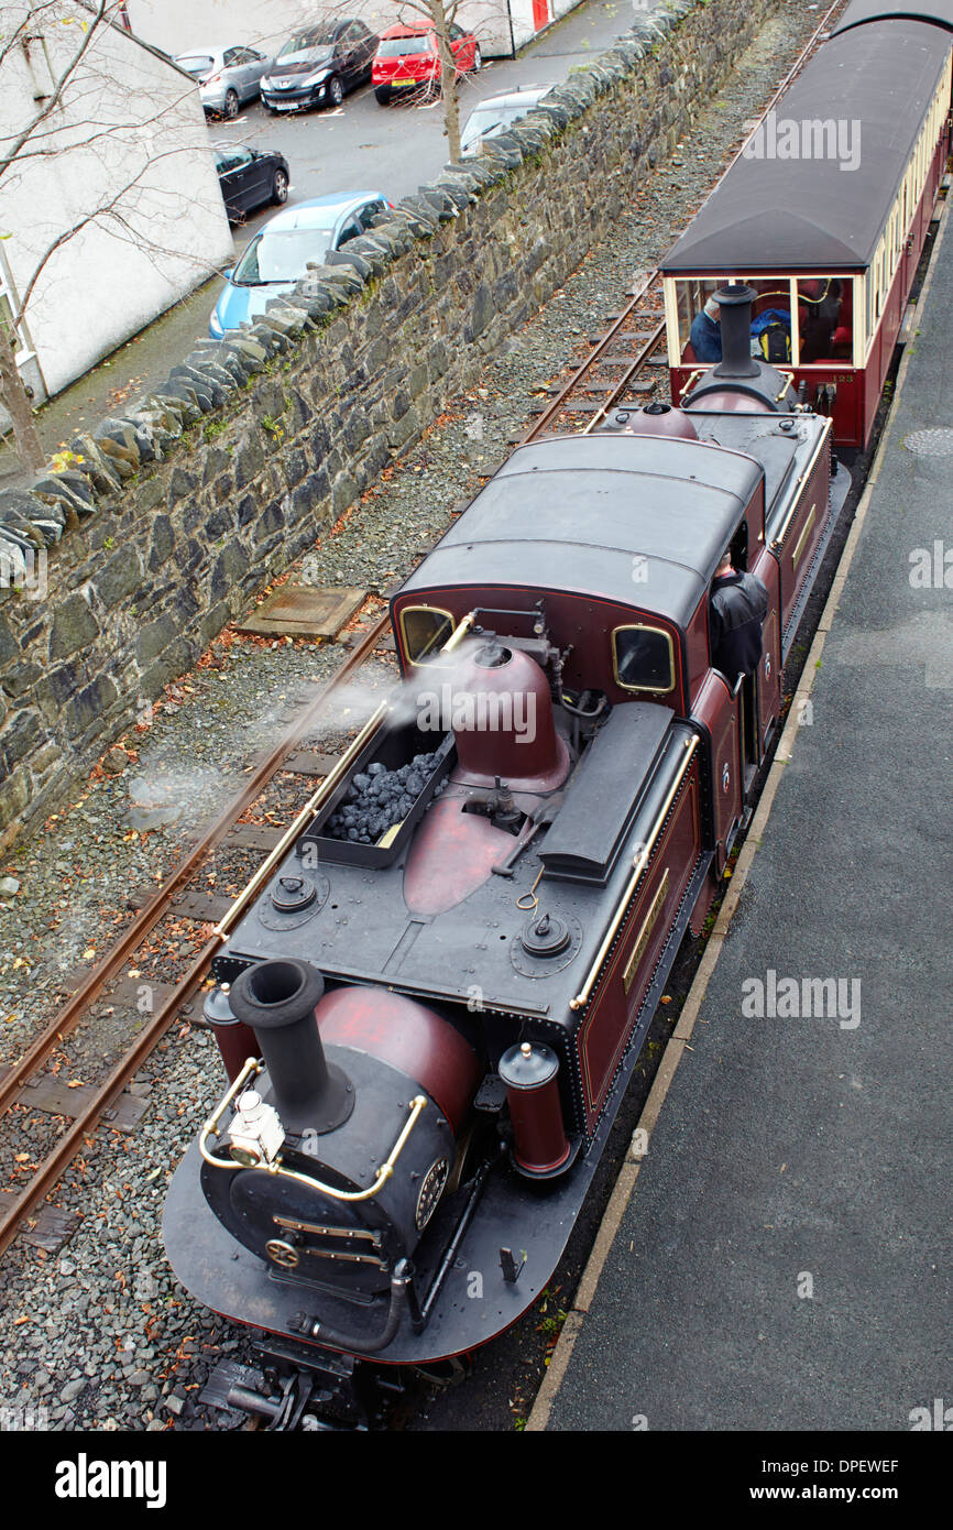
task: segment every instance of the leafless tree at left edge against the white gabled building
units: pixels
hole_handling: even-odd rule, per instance
[[[3,127],[0,115],[0,196],[6,203],[0,217],[11,216],[15,190],[34,185],[40,165],[55,170],[49,200],[38,199],[29,219],[31,271],[20,275],[15,291],[8,283],[6,298],[0,289],[0,404],[11,418],[20,461],[40,471],[44,451],[17,349],[41,277],[49,277],[50,262],[64,245],[93,228],[135,245],[138,256],[156,268],[159,262],[188,262],[196,277],[208,272],[210,263],[193,251],[176,248],[174,239],[156,237],[154,230],[168,228],[185,208],[176,214],[174,193],[153,174],[168,156],[207,151],[207,139],[200,130],[190,141],[184,130],[191,113],[181,107],[194,93],[191,83],[170,76],[171,87],[162,98],[150,99],[136,81],[122,86],[116,80],[110,67],[115,54],[107,44],[122,28],[121,46],[141,46],[122,26],[122,0],[3,0],[0,15],[0,101],[21,103],[32,93],[24,119]],[[196,122],[200,125],[199,118]],[[95,173],[80,207],[72,205],[69,216],[58,219],[57,177],[75,187],[80,164]],[[44,216],[49,237],[43,233]],[[15,245],[26,237],[23,226],[0,225],[3,240]]]

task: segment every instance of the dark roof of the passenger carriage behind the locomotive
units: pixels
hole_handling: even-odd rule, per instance
[[[774,122],[860,122],[857,168],[841,170],[837,158],[739,156],[662,260],[662,272],[866,268],[948,52],[948,34],[922,21],[832,37],[780,99]]]

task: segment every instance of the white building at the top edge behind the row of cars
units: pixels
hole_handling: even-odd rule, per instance
[[[580,0],[462,0],[456,20],[471,28],[485,58],[512,58],[551,21],[572,11]],[[358,15],[373,31],[396,21],[418,21],[421,12],[399,0],[125,0],[133,32],[167,54],[191,47],[246,43],[262,52],[307,21]]]

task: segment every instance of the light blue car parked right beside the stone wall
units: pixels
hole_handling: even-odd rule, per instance
[[[216,303],[208,334],[220,340],[226,329],[265,312],[271,297],[288,292],[321,265],[332,249],[364,234],[378,213],[392,203],[382,191],[338,191],[275,213],[248,245]]]

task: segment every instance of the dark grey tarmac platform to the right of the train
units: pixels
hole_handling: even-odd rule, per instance
[[[951,427],[945,233],[811,710],[551,1429],[909,1431],[953,1405]],[[803,979],[840,984],[834,1014],[803,1014]]]

